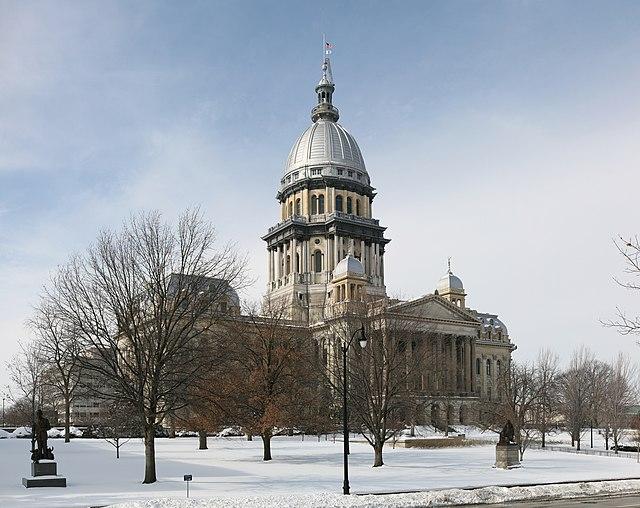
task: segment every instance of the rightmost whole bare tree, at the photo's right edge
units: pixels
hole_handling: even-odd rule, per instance
[[[636,387],[633,380],[636,377],[635,368],[629,358],[622,353],[611,364],[611,375],[605,387],[604,408],[608,415],[608,423],[611,429],[611,437],[615,452],[618,453],[618,445],[624,438],[629,426],[629,407],[634,404]]]

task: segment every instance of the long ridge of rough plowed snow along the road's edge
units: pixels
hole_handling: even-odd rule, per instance
[[[593,498],[638,494],[640,480],[580,482],[531,487],[483,487],[475,490],[448,489],[410,494],[342,496],[306,494],[255,496],[226,499],[150,499],[111,505],[110,508],[418,508],[466,504],[512,503],[516,501]]]

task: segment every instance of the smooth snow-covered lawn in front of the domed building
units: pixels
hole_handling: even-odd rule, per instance
[[[143,447],[131,441],[115,458],[101,440],[52,440],[58,471],[66,489],[25,489],[29,440],[0,440],[0,506],[97,506],[145,498],[182,498],[184,474],[192,474],[194,498],[291,494],[331,494],[342,488],[342,443],[316,438],[274,438],[274,460],[261,460],[261,442],[243,438],[209,438],[209,450],[197,450],[197,438],[158,439],[160,481],[140,483]],[[640,477],[640,464],[623,458],[593,457],[529,450],[524,467],[492,469],[493,446],[415,449],[385,447],[382,468],[372,468],[366,444],[352,444],[351,487],[354,493],[413,491],[606,478]],[[318,496],[313,496],[318,498]],[[327,498],[329,499],[329,498]],[[230,502],[230,500],[229,500]]]

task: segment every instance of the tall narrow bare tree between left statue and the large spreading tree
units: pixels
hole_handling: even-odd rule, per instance
[[[39,338],[42,361],[46,364],[43,382],[62,400],[64,442],[68,443],[71,403],[80,383],[80,344],[73,329],[56,315],[55,306],[45,298],[29,324]]]

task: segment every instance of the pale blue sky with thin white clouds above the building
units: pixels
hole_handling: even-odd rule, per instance
[[[334,104],[388,227],[388,292],[433,292],[447,257],[520,360],[604,328],[612,239],[640,233],[640,3],[0,0],[0,360],[56,267],[132,212],[200,206],[266,288],[260,236],[309,125],[322,34]],[[0,369],[0,388],[8,382]],[[0,390],[1,391],[1,390]]]

